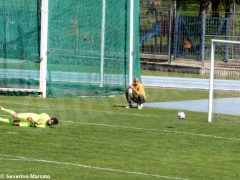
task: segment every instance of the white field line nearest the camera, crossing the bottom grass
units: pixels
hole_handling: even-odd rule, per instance
[[[76,163],[69,163],[69,162],[60,162],[60,161],[51,161],[51,160],[44,160],[44,159],[35,159],[35,158],[27,158],[23,156],[11,156],[6,154],[0,154],[2,158],[0,160],[6,160],[6,161],[25,161],[25,162],[40,162],[40,163],[50,163],[50,164],[59,164],[59,165],[67,165],[67,166],[75,166],[75,167],[82,167],[82,168],[88,168],[88,169],[95,169],[99,171],[110,171],[115,173],[122,173],[122,174],[133,174],[133,175],[139,175],[139,176],[149,176],[149,177],[157,177],[157,178],[164,178],[164,179],[175,179],[175,180],[188,180],[184,178],[178,178],[178,177],[171,177],[171,176],[162,176],[158,174],[148,174],[143,172],[136,172],[136,171],[126,171],[121,169],[113,169],[113,168],[102,168],[97,166],[90,166],[90,165],[84,165],[84,164],[76,164]]]

